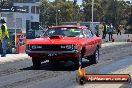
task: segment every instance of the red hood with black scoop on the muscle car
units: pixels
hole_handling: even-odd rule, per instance
[[[28,40],[27,44],[77,44],[80,40],[79,37],[50,36]]]

